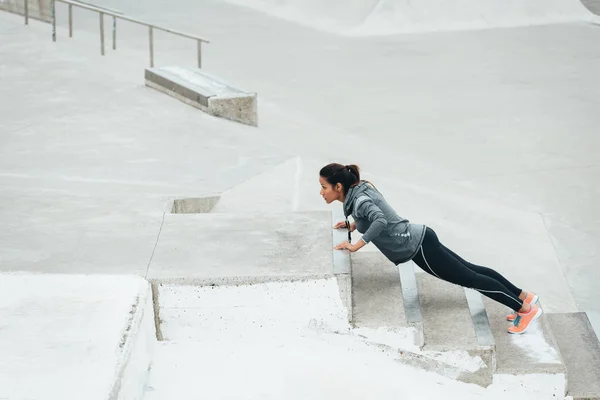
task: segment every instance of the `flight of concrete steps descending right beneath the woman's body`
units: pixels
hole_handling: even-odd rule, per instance
[[[413,263],[394,266],[379,253],[358,252],[351,260],[354,325],[416,330],[418,350],[398,349],[398,362],[484,387],[535,382],[531,390],[543,396],[599,398],[600,344],[585,313],[544,314],[526,334],[510,335],[510,310],[474,290]],[[415,295],[419,309],[411,310]],[[480,367],[457,364],[461,354]]]

